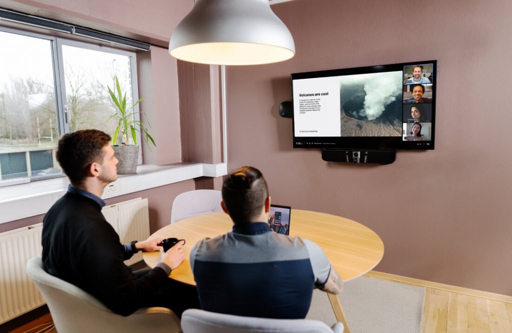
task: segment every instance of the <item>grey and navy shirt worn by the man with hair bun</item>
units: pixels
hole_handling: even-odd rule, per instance
[[[313,286],[323,287],[331,271],[315,243],[272,232],[261,222],[199,241],[190,265],[202,309],[279,319],[305,318]]]

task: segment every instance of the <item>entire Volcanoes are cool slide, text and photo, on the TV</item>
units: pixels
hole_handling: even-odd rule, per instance
[[[402,72],[293,80],[295,137],[400,137]]]

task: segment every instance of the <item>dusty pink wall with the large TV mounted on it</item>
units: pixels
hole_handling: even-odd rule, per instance
[[[512,2],[295,0],[272,9],[296,56],[227,70],[229,169],[264,173],[276,204],[377,232],[376,270],[512,295]],[[388,166],[327,163],[292,149],[290,73],[437,59],[436,149]]]

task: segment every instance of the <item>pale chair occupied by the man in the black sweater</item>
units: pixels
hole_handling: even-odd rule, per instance
[[[116,315],[77,286],[45,272],[41,257],[27,262],[27,274],[45,298],[59,333],[180,332],[180,320],[164,307],[141,308],[130,316]]]

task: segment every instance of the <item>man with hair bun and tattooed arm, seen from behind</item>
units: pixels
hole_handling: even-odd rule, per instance
[[[319,246],[270,230],[270,196],[258,169],[231,171],[222,185],[221,206],[233,230],[199,241],[190,252],[202,309],[301,319],[314,287],[332,294],[342,290],[342,279]]]

